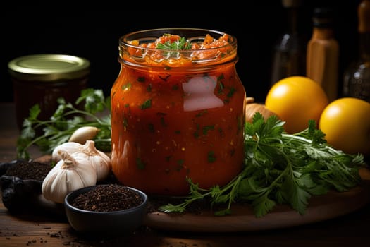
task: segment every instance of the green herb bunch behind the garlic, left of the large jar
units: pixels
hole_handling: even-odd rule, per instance
[[[83,104],[83,109],[77,107]],[[99,128],[94,138],[98,150],[111,151],[111,100],[104,97],[102,90],[87,88],[81,91],[74,104],[58,99],[58,109],[46,121],[38,119],[41,112],[39,104],[30,108],[30,115],[23,121],[20,137],[17,140],[17,157],[29,159],[28,152],[32,145],[37,145],[44,154],[51,153],[54,148],[66,143],[75,130],[82,126]],[[108,111],[109,114],[104,114]],[[99,115],[101,114],[101,115]],[[37,135],[37,130],[42,130]]]

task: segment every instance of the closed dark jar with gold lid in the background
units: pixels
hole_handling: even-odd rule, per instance
[[[18,128],[22,128],[30,108],[39,104],[38,119],[47,120],[58,108],[57,99],[75,102],[87,88],[90,61],[66,54],[32,54],[8,63],[13,80]]]

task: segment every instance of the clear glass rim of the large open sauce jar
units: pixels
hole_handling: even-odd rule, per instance
[[[215,47],[201,47],[199,49],[159,49],[147,47],[147,44],[156,42],[164,35],[178,35],[183,37],[189,44],[202,44],[206,35],[213,40],[221,37],[227,39],[226,43]],[[132,41],[136,42],[132,42]],[[202,28],[157,28],[130,32],[119,39],[120,59],[123,62],[133,64],[147,64],[150,66],[194,66],[196,64],[220,64],[236,57],[237,40],[233,35],[217,30]],[[132,53],[132,51],[135,51]],[[206,54],[206,55],[205,55]]]

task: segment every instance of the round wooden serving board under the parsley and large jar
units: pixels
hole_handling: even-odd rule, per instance
[[[326,195],[314,196],[304,215],[288,205],[278,205],[264,217],[255,217],[250,205],[235,204],[232,215],[216,217],[212,212],[199,214],[166,214],[152,212],[146,215],[144,224],[154,229],[195,232],[259,231],[320,222],[354,212],[370,202],[370,171],[360,172],[362,183],[350,191],[331,191]]]

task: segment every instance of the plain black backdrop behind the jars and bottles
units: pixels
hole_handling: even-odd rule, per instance
[[[248,96],[263,102],[270,87],[273,45],[287,28],[285,9],[280,0],[245,1],[214,4],[204,11],[190,2],[183,9],[145,12],[154,5],[137,8],[117,5],[117,11],[60,11],[27,9],[18,6],[1,15],[0,101],[13,101],[13,85],[8,61],[28,54],[55,53],[82,56],[90,60],[89,86],[109,95],[118,76],[118,39],[128,32],[151,28],[206,28],[234,35],[238,40],[237,71]],[[357,6],[359,0],[305,0],[300,14],[300,32],[308,40],[312,35],[312,11],[332,6],[337,13],[335,37],[340,44],[340,81],[343,71],[357,58]],[[72,11],[71,11],[72,9]],[[118,11],[119,10],[119,11]]]

